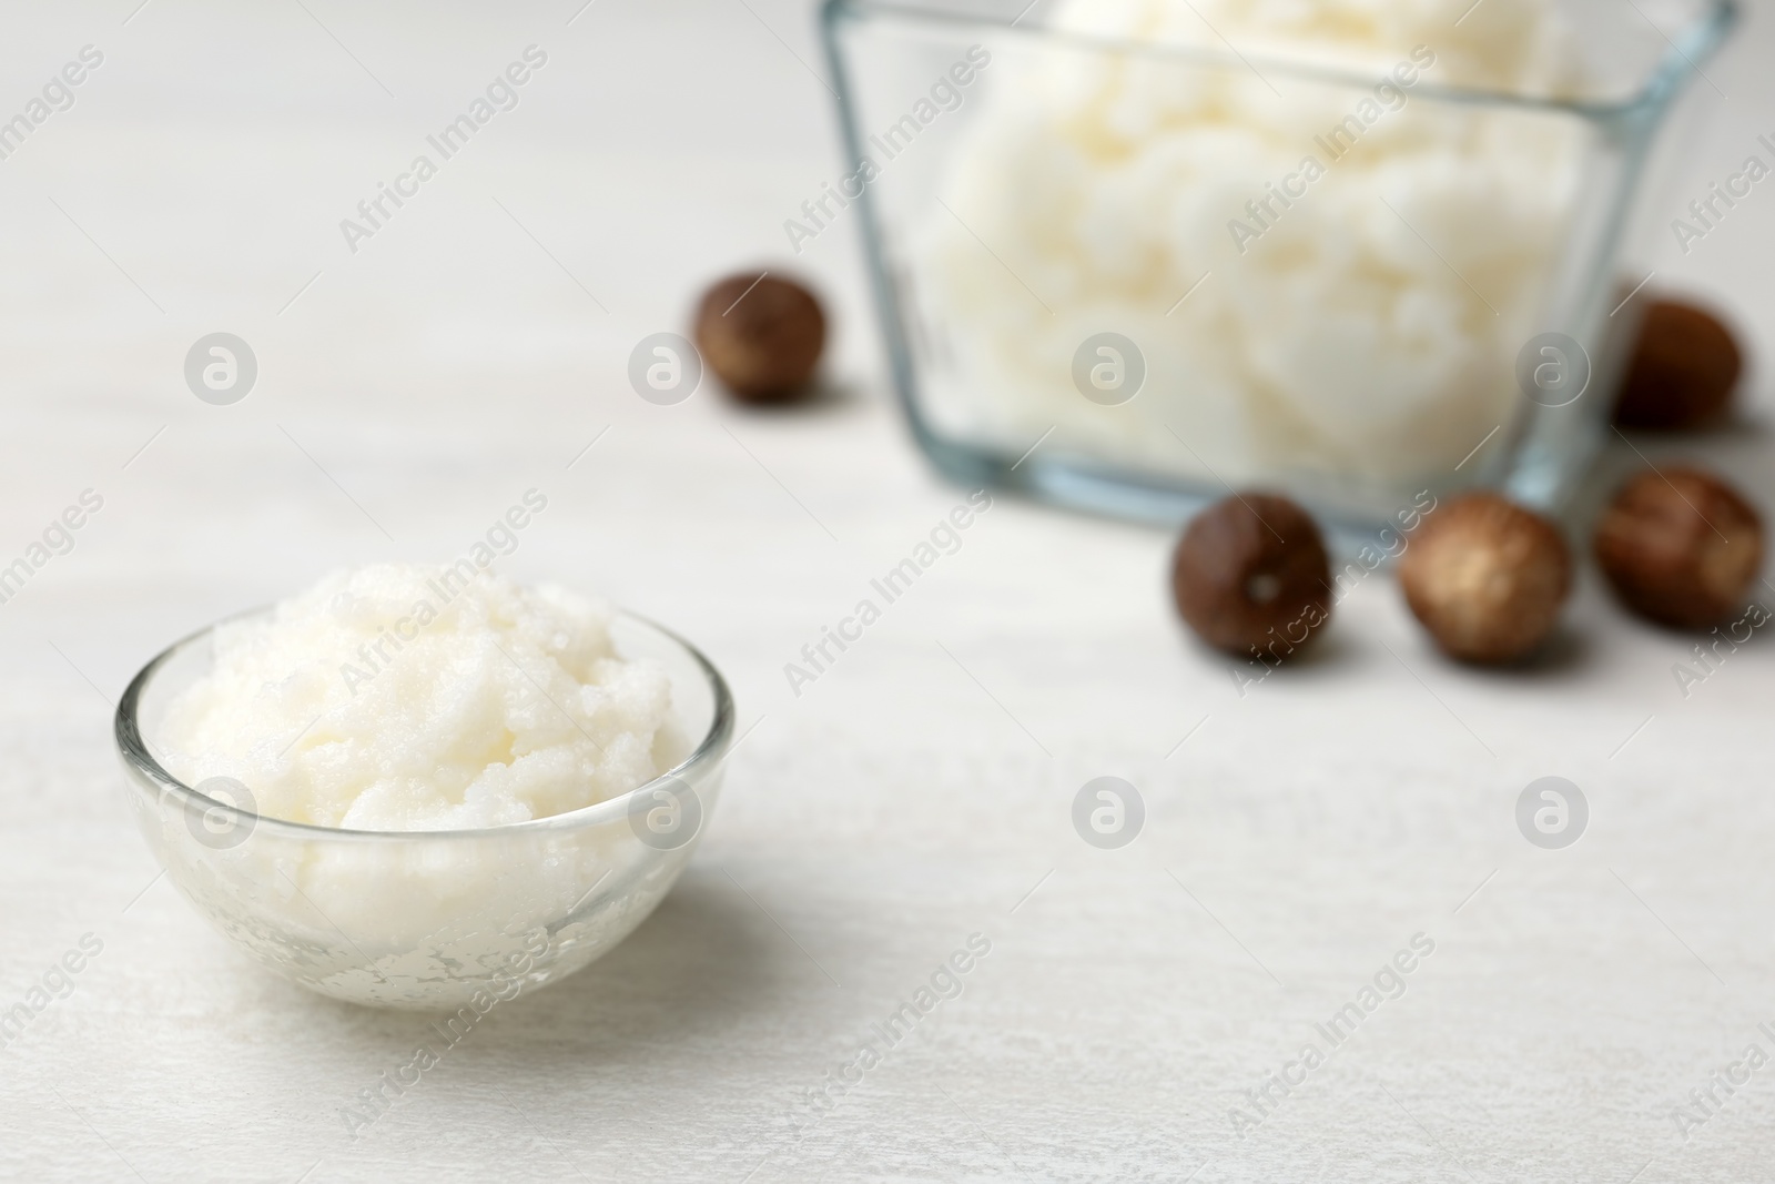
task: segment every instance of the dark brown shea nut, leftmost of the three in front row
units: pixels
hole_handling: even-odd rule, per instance
[[[1280,662],[1331,620],[1331,563],[1312,517],[1287,497],[1214,502],[1177,543],[1172,591],[1211,646]]]

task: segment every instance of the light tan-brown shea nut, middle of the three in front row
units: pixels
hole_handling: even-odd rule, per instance
[[[1496,493],[1466,493],[1411,534],[1399,584],[1443,653],[1512,662],[1553,632],[1571,591],[1571,552],[1541,515]]]

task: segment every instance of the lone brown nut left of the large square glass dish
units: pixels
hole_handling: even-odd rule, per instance
[[[696,348],[744,403],[801,396],[825,348],[825,314],[801,284],[774,275],[730,275],[696,309]]]

